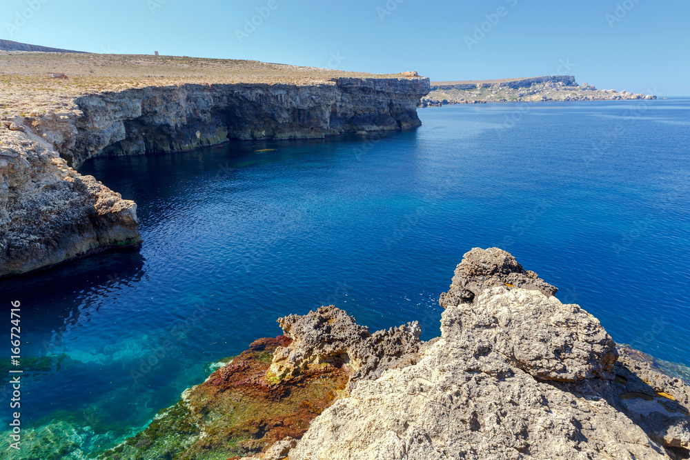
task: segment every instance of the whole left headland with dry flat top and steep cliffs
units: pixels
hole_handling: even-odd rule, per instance
[[[228,139],[420,126],[429,81],[257,61],[0,51],[0,277],[137,244],[136,205],[75,168]]]

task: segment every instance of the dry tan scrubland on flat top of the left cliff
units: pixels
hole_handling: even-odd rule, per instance
[[[48,72],[66,74],[52,78]],[[391,78],[233,59],[144,54],[75,54],[0,51],[0,118],[21,112],[74,110],[81,94],[184,83],[324,83],[333,77]]]

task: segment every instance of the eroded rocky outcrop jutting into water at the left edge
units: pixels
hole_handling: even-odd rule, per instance
[[[137,205],[0,124],[0,276],[141,241]]]

